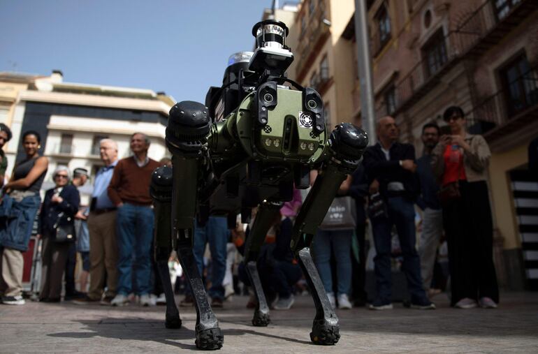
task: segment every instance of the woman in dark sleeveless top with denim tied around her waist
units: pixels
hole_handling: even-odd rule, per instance
[[[36,131],[22,134],[26,157],[15,164],[3,187],[0,212],[0,295],[2,303],[22,305],[22,252],[28,249],[32,227],[41,203],[39,190],[48,169],[48,159],[39,155],[41,137]]]

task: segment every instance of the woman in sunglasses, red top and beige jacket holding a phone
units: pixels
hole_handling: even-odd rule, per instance
[[[432,152],[441,184],[439,199],[449,246],[451,305],[494,309],[499,302],[493,265],[493,220],[486,184],[490,149],[481,135],[467,133],[460,107],[445,110],[450,134]]]

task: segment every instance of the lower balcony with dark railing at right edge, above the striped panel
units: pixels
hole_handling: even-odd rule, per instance
[[[470,133],[496,140],[538,122],[538,65],[467,112]]]

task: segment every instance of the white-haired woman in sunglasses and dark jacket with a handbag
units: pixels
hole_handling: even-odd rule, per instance
[[[41,302],[60,301],[69,247],[75,242],[75,214],[80,204],[78,189],[73,184],[68,184],[69,169],[66,166],[59,165],[54,170],[52,179],[56,186],[45,193],[40,214],[40,233],[43,237],[43,287],[39,294]],[[73,233],[67,235],[67,238],[59,237],[58,228]]]

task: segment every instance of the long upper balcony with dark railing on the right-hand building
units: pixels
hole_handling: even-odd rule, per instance
[[[398,102],[395,114],[419,101],[458,61],[479,57],[497,45],[537,9],[536,0],[511,0],[502,9],[495,8],[493,1],[484,1],[456,29],[436,41],[437,47],[444,50],[437,48],[433,57],[423,52],[423,59],[395,84]]]

